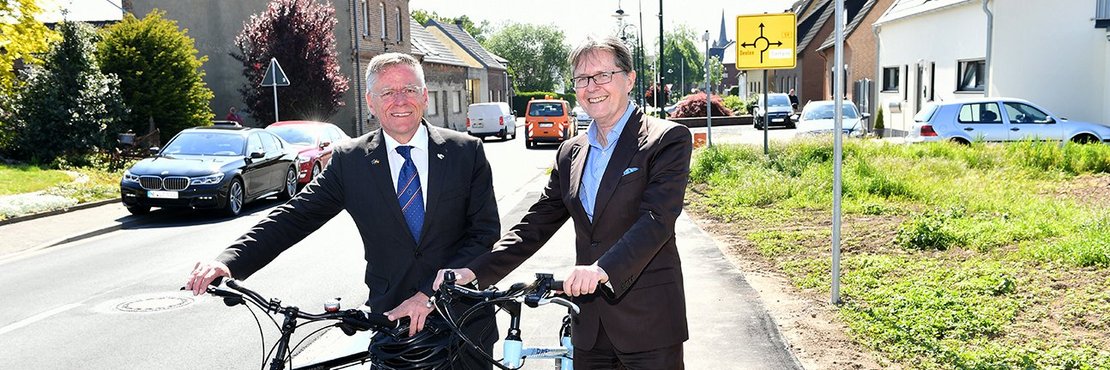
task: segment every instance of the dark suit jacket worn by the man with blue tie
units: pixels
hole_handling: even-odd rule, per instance
[[[424,124],[427,207],[417,243],[401,214],[382,130],[340,144],[301,193],[229,247],[218,260],[245,279],[346,210],[366,250],[367,306],[393,309],[417,290],[432,296],[438,269],[461,268],[490,250],[501,231],[493,176],[482,141]],[[326,248],[320,249],[327,253]]]

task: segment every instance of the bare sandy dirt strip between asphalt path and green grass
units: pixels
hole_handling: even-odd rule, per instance
[[[744,272],[744,278],[751,288],[759,292],[764,306],[779,324],[790,350],[806,369],[898,369],[848,336],[847,326],[839,319],[836,307],[829,302],[830,297],[818,297],[798,290],[789,283],[785,274],[778,272],[774,261],[760,256],[755,244],[744,237],[757,230],[745,229],[746,223],[719,222],[705,210],[692,204],[687,204],[686,209],[695,222],[717,240],[717,244],[722,246],[722,252]],[[811,219],[820,220],[820,218]],[[803,227],[816,227],[818,223],[820,221]],[[766,230],[759,229],[759,231]],[[892,234],[885,232],[850,234],[852,241],[849,243],[846,239],[846,246],[868,249],[881,246],[880,240],[889,242],[892,238]]]

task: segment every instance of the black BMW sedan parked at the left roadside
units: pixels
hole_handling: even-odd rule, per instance
[[[120,197],[132,214],[180,207],[239,216],[246,202],[296,194],[296,152],[287,147],[262,129],[185,129],[123,172]]]

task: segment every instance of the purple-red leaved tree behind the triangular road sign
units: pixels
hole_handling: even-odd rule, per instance
[[[283,120],[325,120],[343,107],[347,78],[340,73],[335,52],[335,8],[315,0],[274,0],[263,13],[251,16],[235,38],[246,83],[239,89],[254,119],[274,121],[273,92],[261,88],[270,58],[276,58],[291,84],[278,88]]]

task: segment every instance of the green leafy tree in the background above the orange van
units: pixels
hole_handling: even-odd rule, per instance
[[[509,23],[482,43],[508,60],[516,91],[554,91],[571,74],[566,36],[553,26]]]

